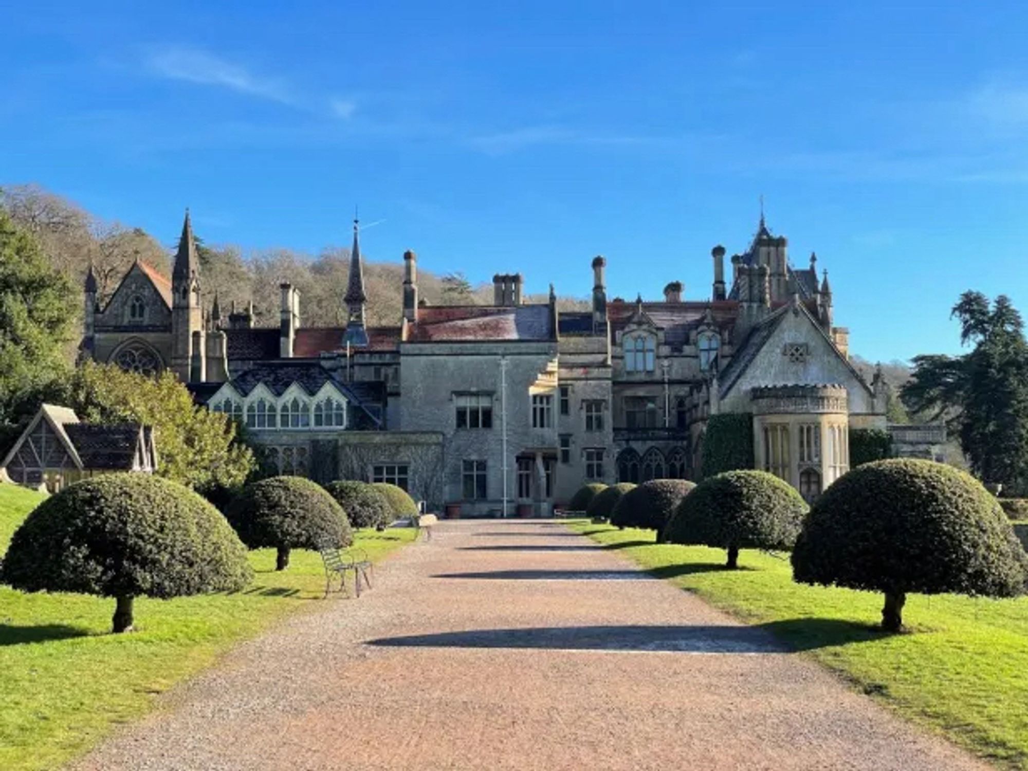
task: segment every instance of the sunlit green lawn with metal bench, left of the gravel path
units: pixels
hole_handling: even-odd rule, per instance
[[[0,485],[0,553],[39,500]],[[358,530],[357,544],[377,560],[415,533]],[[108,633],[112,599],[0,587],[0,769],[60,766],[233,644],[319,605],[325,574],[317,553],[294,551],[281,574],[269,549],[251,552],[251,563],[256,578],[237,594],[137,600],[138,631],[121,635]],[[360,601],[373,602],[374,593]]]

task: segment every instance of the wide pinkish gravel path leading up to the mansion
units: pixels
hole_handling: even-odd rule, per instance
[[[616,550],[443,522],[76,768],[980,769]]]

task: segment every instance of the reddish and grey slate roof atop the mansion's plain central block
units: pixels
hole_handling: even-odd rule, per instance
[[[417,308],[417,318],[407,339],[411,342],[533,342],[553,340],[554,332],[549,304],[440,305]]]

